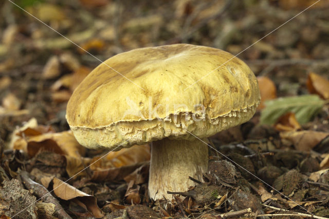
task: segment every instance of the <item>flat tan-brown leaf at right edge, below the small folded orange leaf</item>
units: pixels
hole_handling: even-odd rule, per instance
[[[294,144],[296,150],[312,150],[323,138],[328,136],[326,132],[299,131],[299,132],[281,132],[280,137]]]

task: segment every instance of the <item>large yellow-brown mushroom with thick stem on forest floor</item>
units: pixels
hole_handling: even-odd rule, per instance
[[[149,196],[162,199],[194,186],[189,176],[202,181],[207,137],[248,121],[259,102],[257,79],[243,61],[220,49],[174,44],[100,64],[72,94],[66,119],[90,149],[151,142]]]

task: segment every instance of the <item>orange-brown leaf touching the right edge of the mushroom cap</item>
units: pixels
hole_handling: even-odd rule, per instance
[[[258,106],[258,109],[262,109],[265,107],[264,103],[266,100],[277,98],[277,88],[273,81],[267,77],[257,77],[257,80],[261,93],[261,103]]]

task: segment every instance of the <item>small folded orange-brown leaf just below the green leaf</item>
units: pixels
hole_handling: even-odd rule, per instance
[[[280,132],[297,131],[301,129],[301,125],[297,121],[295,113],[291,112],[281,116],[274,126],[276,130]]]

